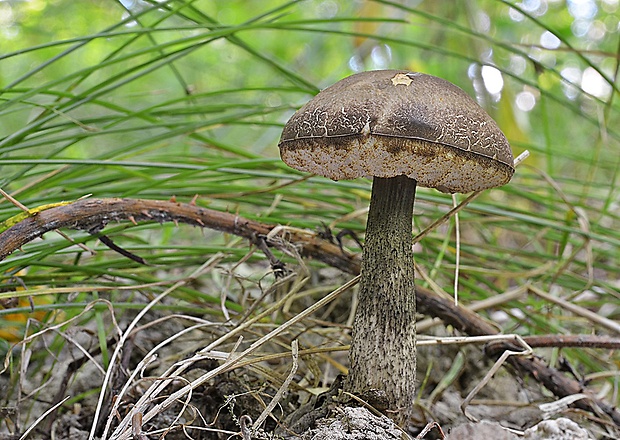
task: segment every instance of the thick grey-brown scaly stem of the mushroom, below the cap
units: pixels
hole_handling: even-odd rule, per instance
[[[415,189],[416,181],[407,176],[373,180],[345,386],[378,399],[374,404],[399,424],[411,414],[415,393]]]

